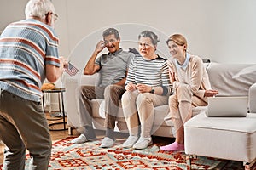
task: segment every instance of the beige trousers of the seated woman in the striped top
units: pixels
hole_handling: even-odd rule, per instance
[[[143,93],[137,90],[126,91],[122,96],[122,107],[130,135],[138,135],[141,126],[141,136],[148,138],[154,123],[154,107],[166,105],[168,96]]]

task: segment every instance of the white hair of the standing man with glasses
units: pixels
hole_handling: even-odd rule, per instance
[[[50,0],[30,0],[26,3],[25,14],[26,19],[30,17],[45,18],[45,14],[55,13],[55,7]]]

